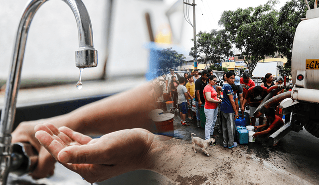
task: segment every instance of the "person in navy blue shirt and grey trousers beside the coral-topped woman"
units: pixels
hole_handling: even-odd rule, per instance
[[[223,128],[223,146],[224,148],[232,149],[237,147],[237,143],[234,140],[235,135],[235,122],[234,120],[238,118],[238,111],[234,101],[234,93],[230,84],[233,84],[235,80],[235,73],[229,71],[226,73],[226,82],[222,87],[223,101],[220,105],[220,111],[222,116],[222,128]],[[234,115],[235,113],[235,115]]]

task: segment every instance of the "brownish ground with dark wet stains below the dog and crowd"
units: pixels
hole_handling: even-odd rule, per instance
[[[301,164],[293,162],[291,156],[276,150],[266,149],[268,151],[265,154],[251,150],[252,145],[262,145],[258,142],[228,149],[222,146],[220,133],[216,139],[217,144],[207,149],[209,157],[198,146],[196,146],[197,153],[194,153],[190,133],[203,134],[204,130],[197,129],[194,124],[188,127],[179,125],[175,120],[174,129],[177,137],[165,141],[165,150],[170,152],[160,161],[160,164],[166,167],[162,173],[165,177],[157,180],[160,185],[318,184],[318,177],[310,177],[311,174],[307,173],[307,169],[302,169]],[[182,136],[178,133],[182,133]],[[189,136],[185,137],[188,134]]]

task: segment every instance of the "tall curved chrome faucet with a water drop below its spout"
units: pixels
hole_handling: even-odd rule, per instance
[[[11,61],[11,72],[6,82],[4,106],[0,120],[0,185],[6,184],[11,165],[11,132],[27,34],[35,12],[46,1],[30,0],[24,8],[18,26]],[[97,50],[93,47],[92,25],[87,9],[81,0],[63,1],[72,9],[78,27],[79,49],[75,51],[75,66],[78,68],[96,67]]]

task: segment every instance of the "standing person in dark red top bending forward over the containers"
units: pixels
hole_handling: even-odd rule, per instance
[[[246,92],[241,110],[244,110],[245,105],[250,103],[249,116],[251,117],[251,124],[253,126],[255,126],[256,124],[256,118],[254,117],[254,112],[256,111],[259,104],[267,96],[268,94],[267,91],[268,91],[267,87],[258,85],[258,86],[249,88],[248,91]],[[259,117],[259,125],[262,125],[263,122],[264,122],[264,114]]]

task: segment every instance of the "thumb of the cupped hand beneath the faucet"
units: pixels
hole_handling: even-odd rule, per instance
[[[105,156],[100,147],[91,144],[66,147],[59,152],[58,160],[72,164],[100,164],[102,161],[105,163],[105,159],[102,159]]]

